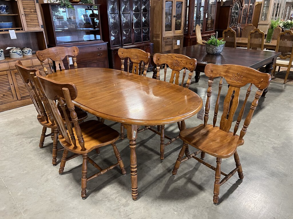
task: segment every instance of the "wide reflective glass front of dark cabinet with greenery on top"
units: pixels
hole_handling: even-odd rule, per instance
[[[57,45],[101,40],[98,8],[74,5],[74,10],[51,5]]]

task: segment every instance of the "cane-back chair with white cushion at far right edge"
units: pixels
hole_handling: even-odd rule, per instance
[[[279,34],[276,52],[281,52],[281,55],[279,55],[276,60],[273,75],[275,75],[277,66],[286,67],[287,72],[284,80],[285,84],[290,72],[290,68],[293,64],[293,33],[291,30],[285,30],[285,32]]]

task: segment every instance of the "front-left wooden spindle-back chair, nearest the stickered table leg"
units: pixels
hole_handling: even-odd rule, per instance
[[[72,100],[77,97],[76,86],[72,83],[59,83],[47,79],[40,75],[40,72],[36,72],[35,79],[38,80],[40,85],[40,91],[49,102],[54,121],[56,121],[59,129],[59,142],[64,147],[62,160],[60,163],[59,174],[64,171],[66,161],[77,157],[82,154],[82,170],[81,170],[81,197],[86,198],[86,183],[88,180],[98,177],[115,166],[120,166],[123,175],[126,175],[126,170],[120,153],[115,145],[115,141],[119,139],[119,133],[113,128],[105,125],[97,120],[88,120],[79,124],[77,122],[76,112],[74,110],[74,104]],[[59,100],[61,111],[65,115],[65,121],[67,130],[64,126],[60,109],[57,108],[55,100]],[[68,115],[65,113],[64,104],[68,106],[70,110],[70,117],[73,121],[74,127],[71,126]],[[88,153],[96,148],[103,147],[111,144],[114,150],[114,154],[117,158],[117,163],[107,168],[102,169],[91,158],[88,157]],[[73,152],[74,155],[67,157],[68,151]],[[96,167],[99,172],[87,177],[87,161]]]

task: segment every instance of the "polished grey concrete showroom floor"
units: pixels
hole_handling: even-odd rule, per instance
[[[199,83],[195,84],[193,78],[190,89],[205,103],[207,78],[202,73]],[[226,84],[222,91],[223,100]],[[58,165],[52,166],[52,140],[46,138],[44,148],[38,147],[42,126],[34,106],[1,112],[0,218],[293,218],[292,93],[292,85],[271,82],[266,98],[259,101],[245,143],[238,149],[244,179],[239,180],[236,174],[221,186],[218,206],[212,202],[214,171],[191,159],[172,176],[182,141],[167,146],[161,162],[160,137],[151,131],[139,133],[137,138],[138,199],[133,201],[131,197],[126,139],[119,140],[117,147],[127,175],[116,167],[90,180],[87,199],[82,200],[82,157],[68,161],[64,174],[59,175],[62,152],[58,153]],[[244,95],[240,103],[243,100]],[[187,127],[200,123],[196,116],[186,120]],[[120,124],[106,124],[120,130]],[[171,135],[178,132],[175,125],[166,125],[166,130]],[[103,147],[99,156],[95,152],[91,155],[102,167],[115,162],[111,146]],[[215,165],[214,158],[207,155],[206,160]],[[232,168],[234,159],[223,159],[222,170],[229,172]],[[93,173],[95,169],[88,165],[88,175]]]

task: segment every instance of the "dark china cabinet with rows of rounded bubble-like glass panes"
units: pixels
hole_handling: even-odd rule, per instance
[[[103,39],[108,41],[109,65],[121,69],[119,48],[139,48],[153,53],[150,0],[98,0]]]

